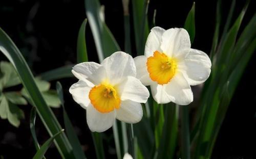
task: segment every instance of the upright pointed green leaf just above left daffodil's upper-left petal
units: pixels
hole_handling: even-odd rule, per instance
[[[88,61],[87,49],[86,49],[86,24],[87,19],[84,19],[78,33],[77,38],[77,63]]]

